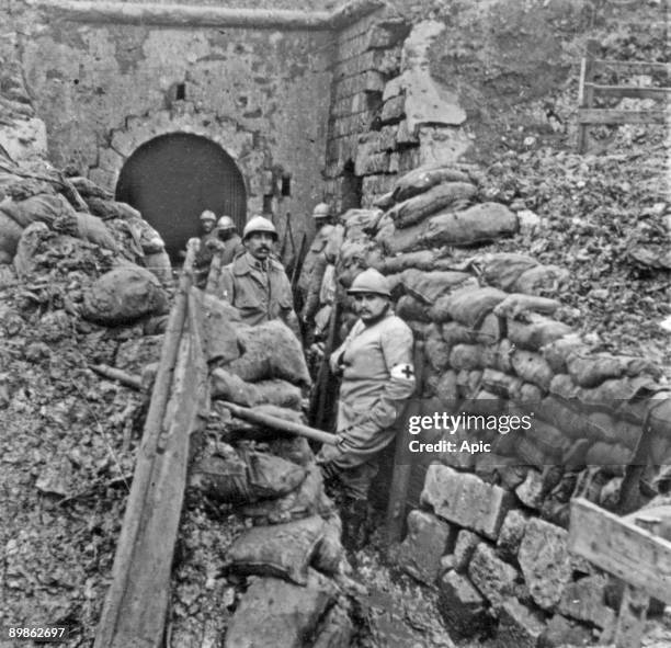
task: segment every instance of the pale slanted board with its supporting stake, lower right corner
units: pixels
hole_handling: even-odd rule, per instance
[[[649,596],[671,604],[671,542],[641,527],[650,512],[618,518],[588,500],[571,501],[569,550],[627,583],[616,648],[640,645]],[[666,508],[666,515],[671,511]]]

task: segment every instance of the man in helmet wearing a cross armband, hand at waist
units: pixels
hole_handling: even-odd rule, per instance
[[[367,497],[379,453],[391,443],[405,401],[414,390],[412,331],[390,309],[385,277],[362,272],[348,291],[359,320],[330,356],[342,376],[338,405],[338,445],[317,457],[328,479],[340,481],[345,502],[343,541],[359,549],[366,539]]]

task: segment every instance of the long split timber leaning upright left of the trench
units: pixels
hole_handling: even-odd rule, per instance
[[[197,247],[197,239],[189,242],[170,312],[94,648],[162,645],[190,435],[209,398],[190,296]]]

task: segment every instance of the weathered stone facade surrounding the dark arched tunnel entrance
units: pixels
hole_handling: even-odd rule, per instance
[[[249,212],[298,218],[322,197],[328,31],[69,22],[20,13],[24,76],[49,157],[114,190],[127,157],[158,135],[217,141],[242,171]],[[291,196],[277,175],[289,174]],[[269,203],[270,200],[270,203]],[[302,226],[302,224],[300,224]],[[296,229],[300,229],[297,224]]]

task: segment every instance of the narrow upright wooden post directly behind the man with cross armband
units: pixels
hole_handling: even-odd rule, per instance
[[[406,423],[409,417],[419,413],[422,397],[422,375],[424,371],[424,345],[422,342],[414,344],[414,395],[407,402],[400,422]],[[412,454],[408,447],[408,430],[400,429],[396,432],[396,452],[394,454],[394,475],[389,489],[389,503],[387,504],[387,546],[397,543],[401,538],[403,523],[406,521],[406,507],[408,498],[408,486],[412,474]]]

